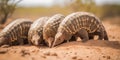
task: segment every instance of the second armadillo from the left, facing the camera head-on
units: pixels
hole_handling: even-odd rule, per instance
[[[43,26],[49,17],[41,17],[34,21],[28,32],[29,44],[40,45],[43,41]]]

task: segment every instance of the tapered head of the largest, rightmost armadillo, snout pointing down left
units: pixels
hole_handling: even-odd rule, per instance
[[[51,47],[54,47],[56,45],[59,45],[61,44],[62,42],[64,41],[64,35],[61,33],[61,32],[58,32],[56,35],[55,35],[55,40],[53,41],[53,44]]]

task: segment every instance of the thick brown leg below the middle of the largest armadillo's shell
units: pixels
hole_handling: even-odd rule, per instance
[[[80,29],[80,31],[77,32],[76,35],[80,37],[83,40],[83,42],[89,40],[88,32],[85,29]]]

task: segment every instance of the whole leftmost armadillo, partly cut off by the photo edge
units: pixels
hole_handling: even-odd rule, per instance
[[[17,19],[7,25],[0,33],[0,46],[28,43],[28,30],[31,24],[32,21],[29,19]]]

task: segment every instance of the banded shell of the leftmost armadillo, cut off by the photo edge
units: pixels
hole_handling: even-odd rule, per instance
[[[29,19],[17,19],[8,24],[2,31],[0,36],[9,38],[10,41],[15,41],[19,38],[27,38],[28,30],[32,21]]]

